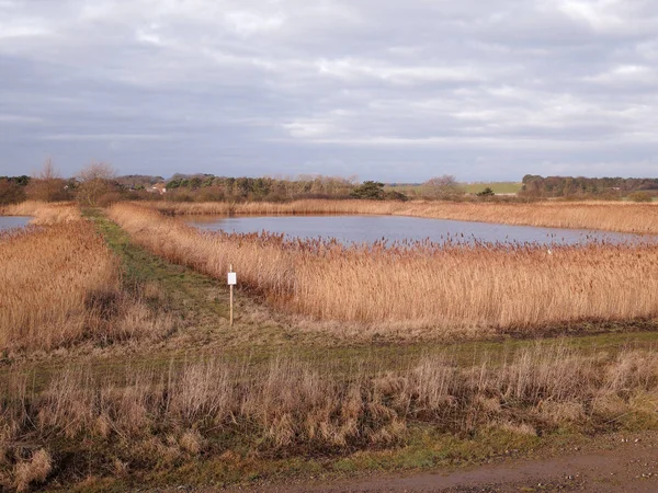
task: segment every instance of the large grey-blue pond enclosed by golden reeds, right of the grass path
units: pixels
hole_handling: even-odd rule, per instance
[[[401,216],[200,216],[186,222],[205,230],[226,232],[285,233],[287,238],[336,238],[344,244],[372,243],[386,239],[388,243],[405,240],[427,240],[445,243],[518,242],[540,244],[582,244],[591,241],[613,243],[646,240],[627,233],[580,229],[535,228],[489,222],[453,221]]]

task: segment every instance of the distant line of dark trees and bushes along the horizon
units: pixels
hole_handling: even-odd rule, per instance
[[[526,174],[518,199],[627,197],[650,202],[658,196],[658,179],[541,176]],[[386,185],[377,181],[359,183],[355,176],[299,175],[232,177],[213,174],[174,174],[171,179],[151,175],[117,176],[107,163],[90,163],[76,176],[64,179],[48,160],[33,176],[0,176],[0,205],[25,199],[73,200],[103,206],[118,200],[164,199],[172,202],[287,202],[303,198],[361,198],[374,200],[490,200],[491,188],[466,191],[453,175],[434,176],[415,185]]]

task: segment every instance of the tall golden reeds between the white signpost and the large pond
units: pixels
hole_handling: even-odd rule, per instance
[[[201,232],[127,204],[113,206],[110,217],[171,262],[219,279],[232,264],[242,287],[279,309],[399,335],[428,328],[433,336],[532,332],[658,316],[655,243],[344,246],[268,233]]]

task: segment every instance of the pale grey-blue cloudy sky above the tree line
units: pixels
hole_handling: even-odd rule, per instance
[[[0,0],[0,175],[658,175],[656,0]]]

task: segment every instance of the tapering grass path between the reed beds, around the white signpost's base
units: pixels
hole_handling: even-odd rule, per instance
[[[124,283],[155,284],[166,307],[181,321],[181,330],[162,349],[222,349],[271,353],[291,345],[334,345],[336,337],[295,330],[288,320],[240,293],[236,296],[236,323],[228,323],[228,288],[193,270],[169,263],[131,242],[128,234],[99,210],[87,211],[124,266]]]

